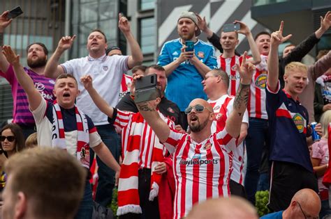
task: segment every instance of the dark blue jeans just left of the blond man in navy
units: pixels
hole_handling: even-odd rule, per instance
[[[267,120],[249,118],[249,129],[246,137],[247,149],[247,172],[244,181],[244,187],[247,193],[247,199],[255,206],[255,193],[258,187],[258,179],[263,147],[269,147],[268,144],[268,122]]]

